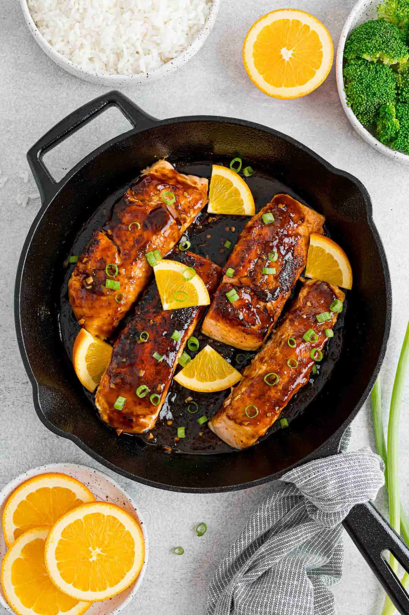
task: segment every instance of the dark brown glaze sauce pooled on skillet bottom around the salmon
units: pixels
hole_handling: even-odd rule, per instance
[[[171,161],[172,162],[172,161]],[[217,164],[223,164],[228,166],[230,160],[221,159],[220,161],[214,161]],[[211,176],[211,164],[206,162],[203,164],[182,164],[177,163],[177,170],[181,173],[191,173],[198,175],[198,177]],[[303,204],[306,204],[297,193],[292,191],[288,186],[284,185],[278,180],[272,179],[270,176],[263,173],[257,173],[257,167],[252,165],[255,169],[255,173],[252,177],[246,178],[246,182],[251,189],[252,195],[255,201],[255,211],[259,210],[271,200],[274,194],[288,193],[290,196],[299,200]],[[112,205],[119,199],[122,199],[123,193],[129,188],[131,181],[124,186],[121,186],[116,192],[109,195],[107,199],[95,210],[95,213],[90,217],[87,224],[84,224],[77,234],[71,249],[68,254],[80,254],[84,250],[85,245],[91,239],[93,231],[97,228],[101,228],[109,214]],[[232,252],[233,245],[238,239],[238,236],[243,229],[244,224],[248,221],[246,216],[214,216],[204,212],[198,215],[197,220],[187,229],[184,233],[184,237],[187,237],[191,242],[189,248],[191,252],[205,256],[212,260],[214,263],[223,267],[226,263],[228,255]],[[327,234],[330,234],[330,229],[325,229]],[[224,243],[226,240],[232,242],[231,248],[225,248]],[[68,255],[67,254],[67,255]],[[64,279],[61,284],[61,302],[60,313],[58,314],[58,320],[60,323],[61,341],[63,342],[64,349],[66,351],[67,369],[72,370],[73,377],[74,371],[71,363],[72,346],[74,339],[79,331],[79,325],[72,314],[72,309],[68,301],[67,284],[69,276],[71,275],[73,266],[69,266],[64,270]],[[299,287],[295,288],[297,293]],[[288,304],[289,302],[287,302]],[[317,366],[318,373],[316,376],[311,376],[310,382],[300,389],[300,391],[290,400],[289,404],[281,413],[281,417],[286,417],[290,423],[292,419],[303,413],[305,409],[310,405],[313,399],[319,394],[324,387],[325,382],[330,377],[335,363],[341,354],[343,346],[343,323],[345,318],[347,300],[344,303],[343,312],[339,315],[337,324],[334,327],[334,337],[330,339],[329,343],[325,346],[325,354],[322,362]],[[287,306],[286,306],[287,308]],[[284,308],[284,311],[286,310]],[[123,326],[128,322],[128,319],[132,316],[133,311],[125,319]],[[209,338],[200,333],[201,323],[199,323],[194,335],[198,338],[200,343],[199,351],[209,343]],[[112,341],[114,341],[115,335]],[[219,342],[212,341],[211,346],[220,354],[232,363],[239,371],[243,371],[246,365],[251,363],[252,357],[255,352],[244,352],[237,350],[231,346],[225,346]],[[197,352],[188,351],[193,358]],[[178,368],[179,369],[179,368]],[[222,442],[216,435],[212,434],[210,429],[204,426],[200,426],[197,423],[197,418],[206,415],[210,418],[224,402],[228,391],[220,391],[212,395],[200,394],[194,391],[188,391],[184,387],[177,384],[175,381],[171,384],[168,395],[166,395],[165,403],[163,404],[158,418],[155,429],[152,431],[154,435],[153,440],[148,439],[149,434],[142,435],[120,435],[121,438],[141,438],[147,445],[151,446],[166,446],[172,448],[175,451],[181,451],[182,453],[233,453],[237,454],[237,451],[230,448],[227,444]],[[94,396],[84,389],[84,395],[95,407]],[[186,399],[192,397],[193,401],[198,404],[198,412],[194,415],[187,411],[189,402]],[[95,408],[95,412],[98,415],[98,411]],[[168,425],[168,421],[172,421],[171,425]],[[183,440],[175,441],[177,427],[186,427],[186,437]],[[102,429],[110,429],[101,422]],[[275,437],[276,431],[279,431],[279,421],[271,427],[268,433],[263,437]],[[200,435],[201,434],[201,435]],[[262,439],[263,439],[262,438]]]

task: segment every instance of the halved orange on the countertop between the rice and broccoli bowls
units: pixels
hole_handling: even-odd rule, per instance
[[[247,75],[274,98],[299,98],[313,92],[326,79],[332,60],[329,31],[303,10],[273,10],[260,17],[244,39]]]

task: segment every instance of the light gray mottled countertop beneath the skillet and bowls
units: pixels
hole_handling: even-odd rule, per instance
[[[290,6],[311,12],[327,25],[335,45],[354,0],[298,0]],[[13,292],[18,256],[40,202],[23,208],[18,195],[36,192],[25,161],[26,151],[52,125],[105,87],[79,81],[44,55],[29,34],[19,2],[0,0],[0,487],[23,470],[50,462],[72,461],[99,467],[76,445],[49,432],[34,412],[31,386],[23,368],[14,331]],[[274,100],[255,89],[241,62],[247,29],[277,0],[222,0],[216,26],[198,54],[179,71],[139,89],[124,89],[130,98],[160,119],[183,114],[215,114],[260,122],[305,143],[330,163],[356,175],[370,192],[373,215],[388,255],[393,314],[388,351],[381,372],[384,403],[389,403],[397,358],[408,319],[409,224],[408,167],[371,149],[353,132],[338,99],[335,69],[310,96]],[[52,156],[53,169],[69,169],[126,122],[114,112],[101,116]],[[19,177],[19,176],[22,177]],[[376,304],[373,306],[376,309]],[[345,375],[348,380],[348,374]],[[403,502],[409,501],[408,387],[402,410],[400,459]],[[367,402],[353,423],[351,448],[373,446]],[[104,470],[110,474],[108,470]],[[111,474],[112,475],[112,474]],[[204,613],[208,582],[247,517],[271,491],[264,485],[236,493],[193,495],[160,491],[117,477],[131,491],[144,514],[150,536],[150,561],[141,590],[124,615],[158,611],[169,615]],[[384,494],[378,497],[384,512]],[[198,539],[200,521],[208,533]],[[169,550],[181,544],[184,557]],[[349,615],[380,611],[382,592],[356,548],[345,538],[343,581],[335,588],[338,612]],[[1,611],[1,608],[0,608]]]

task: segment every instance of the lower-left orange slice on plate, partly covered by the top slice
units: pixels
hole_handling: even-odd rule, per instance
[[[50,528],[39,526],[21,534],[1,565],[1,585],[18,615],[82,615],[91,604],[73,600],[51,581],[44,564]]]

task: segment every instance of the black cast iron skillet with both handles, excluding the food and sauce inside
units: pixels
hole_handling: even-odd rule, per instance
[[[42,161],[44,154],[112,105],[133,129],[96,149],[55,182]],[[235,153],[324,213],[333,239],[351,258],[354,288],[348,293],[343,349],[311,408],[279,437],[228,456],[169,455],[134,438],[118,438],[98,420],[67,367],[53,281],[60,279],[72,239],[96,206],[155,159],[169,156],[176,163],[209,163]],[[378,375],[391,325],[388,264],[372,220],[370,197],[356,178],[276,130],[226,117],[158,121],[119,92],[109,92],[69,114],[30,149],[28,161],[42,207],[21,253],[15,320],[34,405],[45,426],[128,478],[185,492],[259,485],[279,478],[292,466],[337,452],[341,435]],[[409,569],[409,550],[370,504],[355,507],[345,526],[397,608],[409,614],[409,598],[383,557],[389,549]]]

